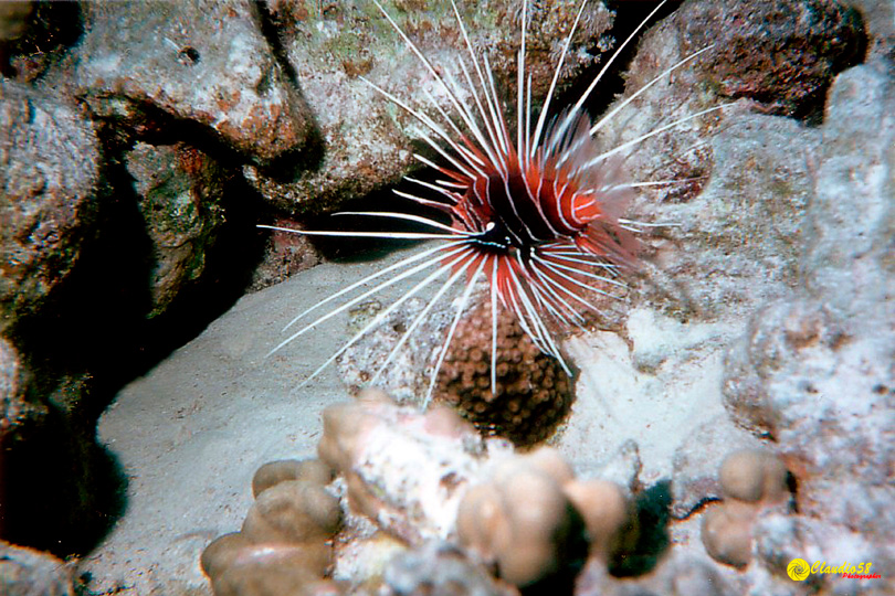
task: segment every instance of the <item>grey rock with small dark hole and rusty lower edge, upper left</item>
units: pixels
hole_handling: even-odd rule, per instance
[[[262,164],[307,143],[312,116],[250,2],[84,10],[74,77],[98,116],[136,128],[151,127],[159,113],[194,123]]]

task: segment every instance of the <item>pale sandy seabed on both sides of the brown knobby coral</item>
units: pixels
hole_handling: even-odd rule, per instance
[[[92,589],[210,594],[199,555],[218,535],[240,529],[252,503],[254,471],[274,459],[314,456],[320,413],[349,398],[335,366],[299,387],[348,339],[344,313],[275,354],[268,351],[286,337],[282,329],[297,313],[406,255],[322,265],[248,295],[118,394],[99,421],[98,435],[127,476],[127,505],[83,562]],[[393,288],[392,297],[399,291]],[[666,329],[672,323],[655,317],[632,312],[633,351],[610,333],[567,341],[582,372],[569,423],[551,443],[578,471],[618,458],[622,445],[634,439],[643,466],[640,481],[668,478],[675,448],[723,414],[724,342],[713,341],[720,331],[710,324]],[[687,350],[694,345],[701,349]],[[674,381],[638,372],[638,354],[656,350],[691,354],[697,360],[691,368],[701,374],[678,374]]]

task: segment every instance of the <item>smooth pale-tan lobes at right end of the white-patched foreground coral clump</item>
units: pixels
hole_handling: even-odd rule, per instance
[[[550,448],[505,459],[486,477],[461,501],[457,536],[517,586],[573,577],[588,552],[606,563],[631,513],[618,485],[576,479]]]

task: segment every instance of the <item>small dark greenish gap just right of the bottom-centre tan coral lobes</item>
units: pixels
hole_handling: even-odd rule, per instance
[[[622,529],[619,546],[609,558],[609,573],[634,577],[652,571],[670,544],[671,482],[659,482],[634,498],[635,514]]]

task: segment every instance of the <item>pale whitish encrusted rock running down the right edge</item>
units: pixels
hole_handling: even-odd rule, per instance
[[[895,86],[878,63],[836,78],[814,158],[803,283],[757,312],[727,359],[731,417],[772,438],[798,483],[800,515],[756,530],[766,533],[758,556],[776,573],[799,553],[895,565],[893,109]],[[831,590],[849,582],[811,578]]]

